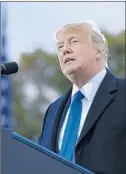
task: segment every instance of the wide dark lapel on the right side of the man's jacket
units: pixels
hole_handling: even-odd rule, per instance
[[[107,70],[107,74],[103,79],[98,92],[95,95],[94,101],[86,117],[82,132],[79,137],[78,144],[85,137],[85,135],[91,130],[93,125],[98,121],[106,107],[114,99],[111,95],[112,91],[117,89],[116,78],[114,75]]]

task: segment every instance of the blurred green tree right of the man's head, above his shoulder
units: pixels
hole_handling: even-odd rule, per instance
[[[109,47],[109,66],[119,77],[125,77],[125,31],[118,35],[104,32]]]

